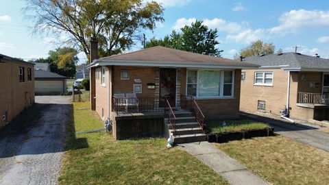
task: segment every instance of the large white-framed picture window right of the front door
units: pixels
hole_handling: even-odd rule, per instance
[[[186,95],[193,97],[233,97],[234,71],[188,70]]]

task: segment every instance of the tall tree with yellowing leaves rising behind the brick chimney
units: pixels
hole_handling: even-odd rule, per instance
[[[154,30],[163,22],[163,8],[143,0],[25,0],[25,17],[34,21],[34,33],[65,38],[89,56],[88,43],[95,36],[99,56],[130,49],[141,40],[143,29]]]

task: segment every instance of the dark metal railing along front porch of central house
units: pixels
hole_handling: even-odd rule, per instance
[[[117,98],[112,97],[112,111],[119,113],[162,112],[158,97]]]

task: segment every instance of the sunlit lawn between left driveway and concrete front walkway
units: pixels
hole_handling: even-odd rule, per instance
[[[103,126],[99,116],[73,103],[60,184],[228,184],[166,138],[114,141],[106,132],[74,134]]]

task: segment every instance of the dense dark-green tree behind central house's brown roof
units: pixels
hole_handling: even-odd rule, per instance
[[[217,29],[209,29],[202,23],[202,21],[195,21],[191,25],[182,27],[179,33],[173,30],[169,36],[164,36],[163,39],[151,38],[146,42],[145,47],[160,45],[220,57],[223,50],[217,48],[219,45]]]

